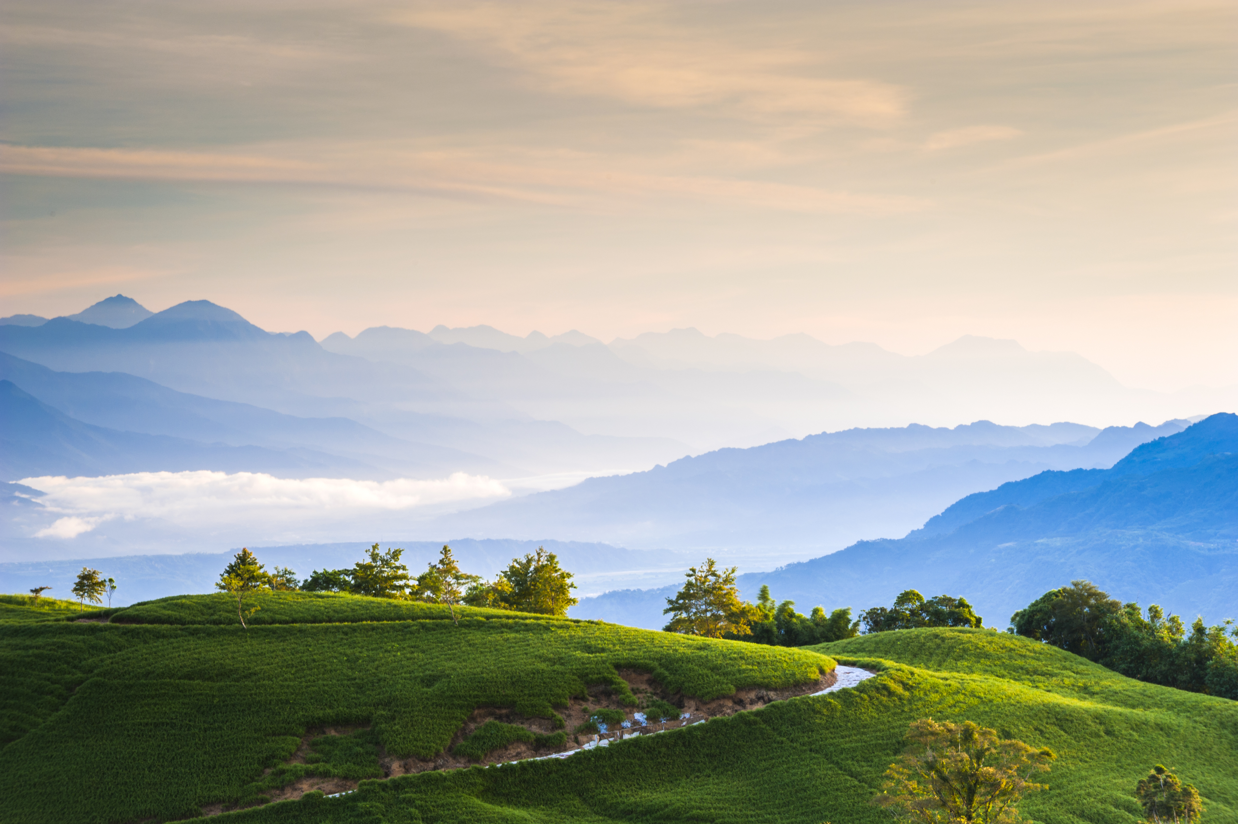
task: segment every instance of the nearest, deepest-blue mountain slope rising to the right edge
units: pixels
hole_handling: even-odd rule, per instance
[[[1114,597],[1191,620],[1238,617],[1238,415],[1212,415],[1107,470],[1046,471],[967,496],[898,540],[859,541],[742,575],[807,611],[889,605],[905,589],[966,596],[985,623],[1088,579]],[[661,626],[676,586],[615,591],[577,617]]]

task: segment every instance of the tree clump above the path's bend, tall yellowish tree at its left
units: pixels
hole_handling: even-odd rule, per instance
[[[803,647],[851,638],[859,622],[851,620],[851,607],[834,610],[828,617],[816,607],[810,617],[795,611],[795,601],[775,605],[770,589],[763,586],[756,603],[739,597],[737,570],[719,569],[709,558],[688,569],[687,580],[673,598],[666,598],[664,615],[667,632],[729,638],[775,647]]]

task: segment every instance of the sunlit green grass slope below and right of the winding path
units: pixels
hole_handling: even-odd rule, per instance
[[[869,804],[880,774],[907,725],[925,716],[1052,747],[1050,789],[1021,808],[1032,820],[1135,824],[1135,782],[1165,763],[1200,788],[1205,820],[1238,822],[1238,703],[1134,682],[989,631],[891,632],[817,649],[880,675],[563,761],[364,782],[349,796],[312,794],[218,822],[875,824],[889,820]]]

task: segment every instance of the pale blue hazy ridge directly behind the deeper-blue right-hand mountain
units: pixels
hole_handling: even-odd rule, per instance
[[[853,429],[685,457],[646,472],[589,478],[431,527],[444,534],[605,540],[625,546],[808,558],[857,538],[906,533],[952,501],[1044,470],[1109,467],[1185,429],[1078,424]]]

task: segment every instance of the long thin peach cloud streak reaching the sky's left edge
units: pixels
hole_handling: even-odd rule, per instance
[[[298,152],[301,157],[291,156]],[[572,207],[613,207],[615,198],[675,197],[792,212],[898,214],[927,201],[899,195],[717,175],[624,169],[587,152],[515,149],[412,151],[384,144],[260,146],[256,151],[188,152],[0,145],[0,172],[57,177],[311,183],[422,195],[498,198]]]

